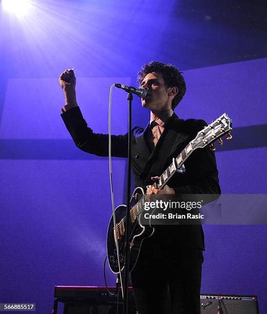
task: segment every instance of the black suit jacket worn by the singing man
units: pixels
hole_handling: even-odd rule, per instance
[[[75,145],[83,151],[98,156],[108,155],[108,135],[93,133],[83,119],[79,107],[62,113],[62,119]],[[172,159],[193,140],[206,123],[203,120],[182,120],[171,116],[156,147],[149,149],[149,124],[145,129],[132,129],[132,170],[136,186],[151,184],[151,176],[161,175]],[[112,156],[127,158],[128,134],[111,136]],[[186,172],[176,173],[168,185],[178,194],[219,194],[219,179],[214,152],[209,148],[197,149],[184,163]],[[164,238],[166,236],[166,239]],[[155,237],[162,243],[204,249],[201,225],[157,226]],[[154,237],[154,238],[155,238]],[[152,238],[152,237],[151,237]],[[151,241],[151,240],[150,240]]]

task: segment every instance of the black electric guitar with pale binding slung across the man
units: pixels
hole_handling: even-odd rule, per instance
[[[196,149],[204,148],[209,145],[211,150],[214,151],[215,147],[213,146],[213,142],[218,140],[219,144],[222,145],[223,142],[221,136],[225,134],[227,134],[226,139],[231,140],[231,126],[231,119],[226,113],[223,113],[217,120],[209,124],[203,130],[199,131],[196,138],[193,141],[190,141],[176,158],[173,158],[173,162],[161,174],[159,180],[156,181],[153,186],[157,189],[162,189],[176,172],[184,172],[185,169],[183,163]],[[141,214],[144,210],[144,203],[147,201],[147,195],[144,189],[142,187],[137,187],[130,200],[130,226],[128,232],[130,245],[130,271],[136,265],[143,240],[151,237],[154,233],[154,228],[152,228],[151,225],[143,226],[140,221]],[[114,228],[112,215],[107,230],[108,263],[111,271],[114,273],[119,273],[119,262],[121,269],[123,270],[124,268],[123,261],[125,249],[126,209],[126,205],[120,205],[116,208],[116,227]],[[115,233],[118,237],[119,251],[117,251]]]

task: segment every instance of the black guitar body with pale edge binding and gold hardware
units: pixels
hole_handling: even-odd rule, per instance
[[[135,189],[135,191],[132,194],[131,201],[130,201],[130,208],[132,208],[136,203],[138,202],[137,195],[140,195],[143,197],[144,190],[141,187],[138,187]],[[116,224],[118,225],[122,220],[124,220],[124,227],[126,229],[126,205],[120,205],[115,209],[115,217],[116,217]],[[142,242],[145,238],[149,238],[154,233],[154,228],[151,226],[143,226],[140,223],[140,217],[139,215],[138,219],[136,219],[135,222],[129,223],[129,242],[130,245],[130,265],[129,269],[130,271],[135,267]],[[108,230],[107,230],[107,257],[108,257],[108,264],[112,272],[119,273],[119,265],[118,265],[118,257],[117,257],[117,247],[115,242],[115,234],[114,234],[114,224],[113,224],[113,215],[111,216],[111,219],[109,221]],[[122,234],[124,233],[124,234]],[[120,265],[121,269],[123,270],[123,263],[124,263],[124,250],[125,250],[125,232],[119,232],[119,259],[120,259]]]

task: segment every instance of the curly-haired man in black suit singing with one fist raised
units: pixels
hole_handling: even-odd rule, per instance
[[[108,155],[108,135],[87,127],[75,98],[75,76],[66,70],[60,76],[66,104],[63,121],[74,143],[82,150]],[[174,108],[185,94],[185,82],[173,65],[160,62],[145,64],[138,73],[138,83],[147,90],[142,106],[150,110],[145,129],[132,129],[132,170],[136,186],[147,187],[149,194],[220,193],[215,156],[208,148],[196,150],[184,163],[186,172],[176,173],[162,190],[153,181],[172,159],[195,138],[206,123],[182,120]],[[112,135],[112,155],[127,157],[127,134]],[[145,239],[131,281],[140,314],[164,313],[167,291],[171,313],[200,313],[201,268],[204,236],[201,225],[156,226]]]

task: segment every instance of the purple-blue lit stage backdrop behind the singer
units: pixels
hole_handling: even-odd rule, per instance
[[[78,3],[40,1],[28,18],[0,11],[0,303],[34,302],[39,314],[51,311],[54,285],[104,285],[111,215],[108,161],[79,151],[65,129],[58,83],[65,68],[74,66],[77,99],[88,125],[106,133],[111,84],[135,85],[140,66],[154,59],[184,67],[187,92],[176,113],[210,123],[226,112],[233,120],[232,142],[225,141],[216,153],[222,193],[267,193],[267,58],[186,67],[194,65],[189,35],[193,41],[193,34],[206,30],[182,19],[181,35],[188,40],[183,47],[190,53],[178,51],[169,37],[170,50],[177,53],[167,51],[164,34],[174,23],[169,9],[174,1],[164,6],[160,20],[153,10],[118,10],[116,2]],[[159,1],[153,3],[161,8]],[[186,32],[188,23],[192,28]],[[115,134],[127,130],[126,95],[113,91]],[[148,121],[149,112],[135,98],[133,123]],[[117,206],[125,200],[126,160],[113,159],[112,166]],[[202,293],[257,295],[265,314],[266,229],[204,226]],[[107,272],[114,285],[116,277]]]

